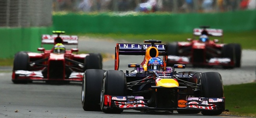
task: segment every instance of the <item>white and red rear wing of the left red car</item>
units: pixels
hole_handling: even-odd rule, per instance
[[[54,44],[54,39],[58,35],[42,35],[41,44]],[[78,45],[78,36],[77,35],[60,35],[63,39],[63,44],[65,45]]]

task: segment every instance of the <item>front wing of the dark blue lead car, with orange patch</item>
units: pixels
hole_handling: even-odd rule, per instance
[[[172,108],[148,107],[147,100],[143,96],[104,96],[104,109],[134,109],[140,111],[146,110],[199,110],[199,111],[224,111],[225,98],[187,98],[187,100],[178,100],[177,106]]]

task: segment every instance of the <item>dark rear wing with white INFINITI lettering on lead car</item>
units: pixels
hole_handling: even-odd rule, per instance
[[[147,41],[145,41],[147,42]],[[149,41],[153,42],[153,41]],[[115,70],[119,69],[119,55],[145,55],[145,59],[150,57],[150,49],[147,50],[148,47],[150,48],[156,48],[156,52],[153,51],[153,53],[158,53],[158,56],[163,56],[164,65],[166,65],[167,60],[167,46],[166,44],[154,44],[158,42],[153,42],[152,44],[133,44],[133,43],[117,43],[115,47]],[[147,55],[146,55],[147,50]],[[154,50],[154,49],[153,49]],[[144,61],[146,61],[144,60]],[[144,62],[143,61],[143,62]],[[145,62],[144,62],[145,63]]]

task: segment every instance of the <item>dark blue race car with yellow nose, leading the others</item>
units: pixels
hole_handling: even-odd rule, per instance
[[[219,115],[225,109],[221,75],[218,72],[176,72],[165,67],[167,45],[117,43],[115,70],[85,70],[82,106],[85,111],[121,113],[178,111],[180,114]],[[145,55],[141,64],[128,64],[132,71],[119,70],[119,55]],[[163,60],[158,57],[163,56]],[[152,61],[152,59],[156,59]],[[160,59],[160,60],[159,60]],[[100,105],[99,105],[100,104]]]

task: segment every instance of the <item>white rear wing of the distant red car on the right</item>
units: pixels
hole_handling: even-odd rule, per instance
[[[193,35],[200,36],[202,31],[206,30],[209,35],[214,37],[221,37],[223,36],[223,30],[222,29],[202,29],[202,28],[195,28],[193,30]]]

